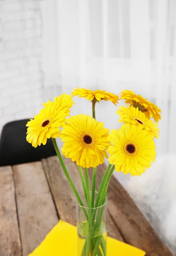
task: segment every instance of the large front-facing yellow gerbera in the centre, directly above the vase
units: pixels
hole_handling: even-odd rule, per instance
[[[105,150],[110,143],[107,140],[109,129],[103,127],[103,122],[95,121],[91,116],[70,117],[60,134],[64,142],[63,155],[83,168],[104,163],[104,157],[108,158]]]

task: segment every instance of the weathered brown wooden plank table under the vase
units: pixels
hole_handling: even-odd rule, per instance
[[[64,161],[82,192],[75,163]],[[104,165],[98,167],[97,189],[104,171]],[[172,255],[115,177],[107,197],[109,236],[145,250],[146,256]],[[0,256],[27,256],[59,218],[76,224],[75,196],[57,157],[0,167]]]

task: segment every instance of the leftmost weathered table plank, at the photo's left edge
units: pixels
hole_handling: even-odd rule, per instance
[[[0,256],[21,256],[12,168],[0,167]]]

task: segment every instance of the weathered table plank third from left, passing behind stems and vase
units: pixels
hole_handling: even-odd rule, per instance
[[[83,189],[77,166],[68,158],[64,158],[64,162],[69,170],[75,187],[77,188],[79,193],[82,193]],[[49,180],[49,184],[51,186],[52,194],[60,218],[63,221],[76,225],[75,195],[73,194],[72,189],[69,186],[69,183],[64,175],[58,158],[49,157],[47,160],[42,160],[42,163],[46,172],[46,176]],[[108,235],[115,239],[123,241],[109,213],[107,215],[107,219],[109,232]]]

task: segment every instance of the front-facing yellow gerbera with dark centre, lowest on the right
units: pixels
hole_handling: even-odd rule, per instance
[[[117,172],[141,175],[155,161],[153,136],[137,125],[123,124],[119,130],[110,132],[108,140],[113,144],[107,148],[109,162]]]

